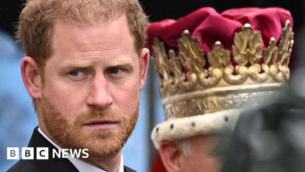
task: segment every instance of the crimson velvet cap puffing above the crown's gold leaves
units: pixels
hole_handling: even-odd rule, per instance
[[[192,37],[199,38],[203,53],[209,53],[217,41],[223,44],[224,49],[232,52],[235,32],[241,31],[244,24],[248,23],[254,31],[261,32],[265,49],[271,37],[276,42],[280,39],[287,20],[292,27],[290,12],[277,7],[229,9],[220,14],[211,7],[204,7],[177,21],[165,19],[151,23],[148,27],[147,47],[152,50],[153,39],[159,37],[169,48],[178,50],[177,40],[184,30],[188,30]]]

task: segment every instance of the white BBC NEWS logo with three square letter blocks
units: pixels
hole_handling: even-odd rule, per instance
[[[52,149],[52,158],[88,158],[88,149]],[[83,155],[81,155],[83,154]],[[7,148],[7,159],[19,159],[19,148]],[[21,148],[21,159],[34,159],[34,148]],[[49,148],[36,148],[36,159],[49,159]]]

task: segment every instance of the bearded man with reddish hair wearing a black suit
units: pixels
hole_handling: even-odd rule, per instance
[[[21,159],[8,171],[134,171],[121,150],[138,119],[146,27],[136,0],[27,1],[17,37],[38,117],[28,147],[34,156],[47,147],[49,157]],[[53,149],[82,153],[54,158]]]

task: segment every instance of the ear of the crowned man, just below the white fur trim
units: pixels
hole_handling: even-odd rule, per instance
[[[162,140],[159,144],[160,157],[167,172],[181,171],[180,158],[183,152],[174,141]]]

